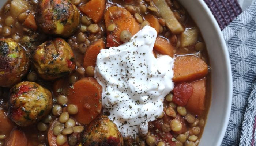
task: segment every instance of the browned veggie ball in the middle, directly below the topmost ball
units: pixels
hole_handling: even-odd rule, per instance
[[[64,39],[46,41],[32,55],[35,69],[45,80],[63,77],[75,70],[74,53]]]

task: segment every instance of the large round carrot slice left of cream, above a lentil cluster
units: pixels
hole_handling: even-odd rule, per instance
[[[83,78],[73,85],[68,92],[68,104],[78,106],[78,113],[74,118],[79,123],[89,124],[101,112],[102,87],[95,78]]]

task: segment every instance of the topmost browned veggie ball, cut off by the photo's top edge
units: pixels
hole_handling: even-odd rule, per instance
[[[35,20],[46,34],[69,37],[79,29],[80,13],[68,0],[42,0]]]

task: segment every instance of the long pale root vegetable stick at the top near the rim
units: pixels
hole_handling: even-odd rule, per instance
[[[179,34],[184,31],[184,27],[175,18],[172,10],[165,0],[153,0],[155,6],[159,9],[160,15],[165,19],[166,26],[173,34]]]

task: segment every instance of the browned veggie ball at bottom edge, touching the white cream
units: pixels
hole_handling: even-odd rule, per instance
[[[123,137],[108,116],[91,122],[81,134],[82,146],[123,146]]]

